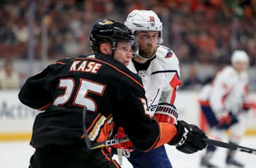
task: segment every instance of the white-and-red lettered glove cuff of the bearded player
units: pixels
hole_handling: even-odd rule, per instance
[[[176,107],[169,103],[159,103],[154,114],[158,122],[177,124],[178,112]]]

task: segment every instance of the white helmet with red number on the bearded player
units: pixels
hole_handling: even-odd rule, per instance
[[[157,14],[151,10],[133,10],[127,15],[124,25],[135,31],[159,31],[160,39],[158,44],[163,43],[163,23]]]

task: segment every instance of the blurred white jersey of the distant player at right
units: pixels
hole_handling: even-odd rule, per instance
[[[238,75],[233,66],[227,66],[215,77],[213,83],[201,89],[201,102],[209,100],[214,113],[241,110],[243,100],[247,95],[248,75],[246,72]]]

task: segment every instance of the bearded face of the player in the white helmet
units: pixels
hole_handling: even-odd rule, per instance
[[[139,55],[150,58],[155,55],[159,40],[158,31],[136,31],[135,36],[139,44]]]

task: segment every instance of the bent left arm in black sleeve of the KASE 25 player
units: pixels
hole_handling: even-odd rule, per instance
[[[27,79],[18,95],[20,101],[37,110],[44,110],[52,101],[50,82],[53,79],[54,65],[47,66],[42,72]]]

